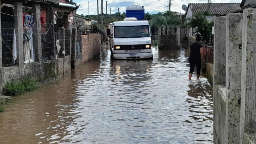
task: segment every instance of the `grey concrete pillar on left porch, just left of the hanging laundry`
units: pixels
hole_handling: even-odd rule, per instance
[[[22,19],[22,2],[14,2],[14,29],[16,33],[17,59],[20,66],[23,66],[23,19]]]

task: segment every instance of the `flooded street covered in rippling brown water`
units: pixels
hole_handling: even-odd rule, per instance
[[[212,88],[188,80],[188,52],[153,60],[100,58],[0,113],[0,144],[213,144]]]

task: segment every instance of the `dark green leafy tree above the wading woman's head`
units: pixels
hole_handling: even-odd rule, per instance
[[[206,19],[206,16],[211,15],[210,12],[198,12],[192,18],[187,18],[188,28],[195,28],[196,33],[202,36],[202,40],[210,41],[210,35],[212,34],[212,27],[214,23]]]

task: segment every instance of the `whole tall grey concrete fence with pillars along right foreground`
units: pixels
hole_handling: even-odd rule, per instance
[[[256,9],[247,9],[214,18],[214,144],[256,140],[254,14]]]

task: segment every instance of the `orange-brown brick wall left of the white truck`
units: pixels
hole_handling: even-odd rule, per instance
[[[82,63],[86,63],[100,55],[100,34],[82,36]]]

